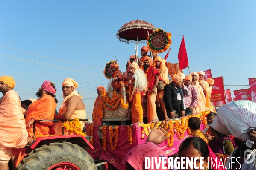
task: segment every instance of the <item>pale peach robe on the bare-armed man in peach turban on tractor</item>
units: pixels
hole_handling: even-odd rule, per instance
[[[66,112],[67,107],[65,107],[65,103],[66,101],[71,98],[71,96],[76,95],[79,96],[82,99],[82,96],[79,95],[79,93],[77,92],[77,90],[74,90],[73,92],[71,92],[63,101],[62,105],[59,108],[59,115],[62,115],[63,113]],[[79,118],[79,119],[86,119],[86,111],[84,110],[74,110],[74,113],[72,114],[70,119],[75,119],[75,118]],[[83,129],[84,125],[85,125],[85,121],[80,121],[81,123],[81,129]],[[62,123],[59,122],[55,122],[53,125],[55,134],[57,135],[62,135]],[[66,131],[64,130],[64,134],[65,135],[69,135],[70,131]]]

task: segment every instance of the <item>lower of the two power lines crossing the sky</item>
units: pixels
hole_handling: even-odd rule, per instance
[[[44,62],[41,62],[41,61],[34,61],[34,60],[30,60],[30,59],[26,59],[26,58],[20,58],[20,57],[16,57],[16,56],[12,56],[12,55],[6,55],[6,54],[2,54],[2,53],[0,53],[0,57],[10,58],[10,59],[13,59],[13,60],[18,60],[18,61],[24,61],[24,62],[27,62],[27,63],[34,63],[34,64],[38,64],[38,65],[41,65],[41,66],[48,66],[48,67],[52,67],[52,68],[56,68],[56,69],[63,69],[63,70],[68,70],[68,71],[73,71],[73,72],[80,72],[80,73],[84,73],[84,74],[104,77],[102,74],[96,73],[96,72],[88,72],[88,71],[85,71],[85,70],[73,69],[73,68],[64,67],[64,66],[58,66],[58,65],[55,65],[55,64],[44,63]]]

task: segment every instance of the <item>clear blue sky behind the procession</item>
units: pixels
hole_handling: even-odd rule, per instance
[[[145,20],[172,34],[168,62],[177,63],[182,35],[191,72],[212,69],[213,77],[224,76],[225,85],[248,85],[256,77],[256,1],[6,1],[0,0],[0,45],[78,63],[78,66],[0,47],[0,75],[11,75],[21,100],[36,98],[45,80],[56,84],[62,103],[61,84],[73,78],[84,95],[91,117],[96,88],[106,86],[103,69],[117,56],[121,71],[134,44],[120,42],[118,29],[130,20]],[[139,49],[145,44],[139,44]],[[12,55],[57,66],[74,72],[3,58]],[[159,54],[164,57],[166,52]],[[54,66],[56,67],[56,66]],[[60,68],[60,67],[59,67]],[[102,69],[102,70],[100,70]],[[102,76],[85,74],[102,73]],[[188,69],[184,69],[185,75]],[[237,90],[245,87],[225,86]],[[234,96],[232,92],[232,96]]]

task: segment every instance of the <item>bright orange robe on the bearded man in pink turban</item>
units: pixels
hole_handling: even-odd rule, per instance
[[[47,120],[54,119],[55,112],[55,100],[52,96],[46,95],[30,104],[29,109],[27,110],[26,123],[31,119],[36,120]],[[34,135],[49,135],[50,126],[53,125],[52,121],[44,121],[35,124],[35,134],[33,133],[33,126],[27,129],[29,137]],[[21,148],[13,150],[12,153],[18,158],[15,162],[15,167],[21,162],[21,160],[26,156],[26,148]]]

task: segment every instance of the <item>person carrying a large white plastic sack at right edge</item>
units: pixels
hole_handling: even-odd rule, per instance
[[[219,107],[217,117],[210,127],[219,133],[233,135],[235,138],[244,141],[247,147],[251,148],[249,157],[244,164],[241,164],[241,170],[256,170],[256,103],[245,100],[232,101]],[[253,147],[254,145],[254,147]],[[231,153],[227,160],[226,168],[231,170],[232,164],[235,164],[234,153]],[[244,155],[244,153],[242,153]],[[230,165],[231,164],[231,165]]]

